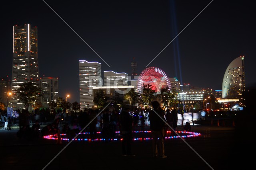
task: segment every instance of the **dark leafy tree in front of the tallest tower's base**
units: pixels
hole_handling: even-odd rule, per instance
[[[24,104],[25,110],[28,111],[28,107],[43,96],[42,90],[34,82],[24,82],[19,86],[18,99]]]

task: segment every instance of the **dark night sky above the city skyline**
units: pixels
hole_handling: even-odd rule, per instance
[[[0,76],[12,74],[12,25],[30,23],[38,27],[40,77],[58,77],[59,96],[79,102],[79,60],[101,63],[102,76],[106,70],[130,76],[135,57],[139,74],[210,2],[46,0],[109,67],[44,1],[6,1],[0,6]],[[255,88],[254,8],[250,1],[214,0],[148,66],[181,83],[222,90],[226,68],[244,55],[246,88]]]

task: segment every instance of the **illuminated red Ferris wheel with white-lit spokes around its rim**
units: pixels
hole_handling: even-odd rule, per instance
[[[157,67],[148,67],[140,73],[138,78],[138,91],[142,92],[144,84],[151,84],[152,90],[160,94],[161,88],[170,88],[170,81],[166,73]]]

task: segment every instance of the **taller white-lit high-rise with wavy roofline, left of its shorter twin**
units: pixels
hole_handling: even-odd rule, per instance
[[[94,105],[93,86],[102,86],[101,63],[79,60],[79,90],[81,109]]]

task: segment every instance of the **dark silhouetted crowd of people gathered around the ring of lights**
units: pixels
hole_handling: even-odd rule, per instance
[[[120,131],[122,137],[122,155],[135,156],[132,152],[132,138],[134,131],[143,131],[145,122],[150,122],[150,130],[152,131],[152,154],[153,157],[166,158],[164,150],[164,140],[166,131],[177,130],[178,115],[176,109],[166,109],[166,112],[160,107],[160,103],[153,101],[151,109],[146,114],[144,109],[132,109],[130,106],[123,106],[121,111],[104,109],[100,113],[96,110],[87,109],[82,114],[73,115],[72,119],[66,119],[61,122],[61,117],[56,116],[54,121],[42,129],[40,129],[40,121],[36,119],[32,127],[29,121],[28,111],[22,111],[19,115],[19,131],[18,137],[28,139],[40,138],[46,135],[56,135],[58,132],[64,133],[68,138],[75,137],[79,131],[89,132],[90,139],[96,138],[97,127],[101,130],[101,135],[105,141],[113,139],[116,131]],[[71,121],[72,120],[72,121]],[[11,125],[11,119],[8,117],[8,123]],[[60,127],[62,124],[62,127]],[[70,128],[73,126],[73,128]],[[30,128],[31,127],[31,128]],[[11,127],[8,126],[8,130]],[[186,122],[184,131],[191,131],[191,125]]]

